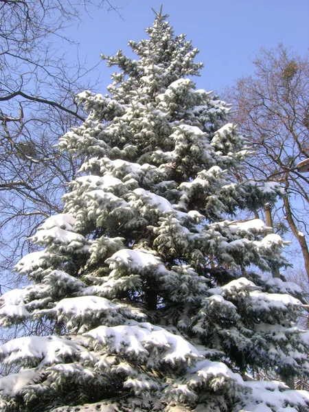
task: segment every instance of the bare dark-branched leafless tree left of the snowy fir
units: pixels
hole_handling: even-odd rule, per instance
[[[73,157],[60,156],[54,145],[85,118],[74,98],[95,88],[95,80],[88,84],[88,69],[70,63],[58,49],[61,43],[73,46],[65,28],[92,4],[0,1],[0,282],[5,288],[16,282],[11,269],[28,250],[25,240],[61,210],[60,194],[78,169]],[[107,0],[96,5],[119,12]]]

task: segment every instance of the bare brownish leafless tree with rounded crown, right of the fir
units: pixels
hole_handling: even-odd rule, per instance
[[[295,169],[309,157],[309,61],[279,45],[262,49],[253,61],[254,76],[227,88],[231,119],[250,137],[255,154],[239,179],[277,181],[286,190],[275,207],[276,230],[293,233],[309,279],[309,176]],[[282,217],[286,219],[283,224]]]

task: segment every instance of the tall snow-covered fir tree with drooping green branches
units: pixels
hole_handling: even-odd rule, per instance
[[[235,220],[280,188],[233,180],[247,141],[166,18],[130,41],[137,60],[102,56],[107,95],[78,95],[89,117],[59,146],[84,164],[16,266],[30,285],[1,297],[1,325],[45,331],[1,345],[1,411],[308,410],[284,383],[309,372],[301,290],[249,271],[284,265],[282,239]]]

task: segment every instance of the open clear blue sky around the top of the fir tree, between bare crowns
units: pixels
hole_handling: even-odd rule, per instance
[[[261,47],[276,47],[282,42],[304,56],[309,47],[309,0],[111,0],[119,6],[123,20],[115,12],[89,9],[82,23],[67,31],[80,43],[80,60],[87,65],[100,61],[100,53],[128,52],[128,40],[146,36],[152,24],[151,8],[170,14],[176,34],[185,33],[205,67],[197,86],[220,90],[242,75],[251,74],[250,58]],[[128,52],[129,53],[129,52]],[[76,58],[72,52],[71,60]],[[105,62],[99,66],[102,92],[109,84]],[[112,71],[115,71],[113,68]]]

